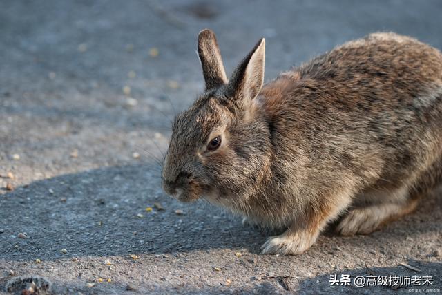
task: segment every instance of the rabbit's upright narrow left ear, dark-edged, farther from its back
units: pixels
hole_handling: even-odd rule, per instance
[[[198,57],[206,81],[206,90],[227,84],[220,48],[211,30],[202,30],[198,35]]]

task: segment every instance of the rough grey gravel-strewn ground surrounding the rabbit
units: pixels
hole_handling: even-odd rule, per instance
[[[331,227],[305,254],[263,256],[268,233],[167,198],[155,162],[171,117],[202,91],[202,28],[217,32],[227,71],[266,37],[269,80],[379,30],[442,48],[441,1],[2,4],[0,293],[19,276],[55,294],[441,292],[441,191],[369,236]],[[434,285],[331,287],[335,274]]]

